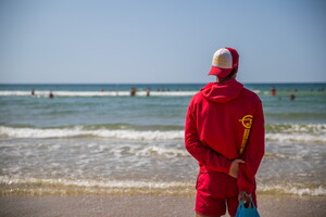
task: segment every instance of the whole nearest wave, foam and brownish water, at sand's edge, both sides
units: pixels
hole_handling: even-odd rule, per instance
[[[193,194],[195,181],[71,180],[0,177],[0,194]],[[325,196],[322,186],[259,184],[258,193]]]

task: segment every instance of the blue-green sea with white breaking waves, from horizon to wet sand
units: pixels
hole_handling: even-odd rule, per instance
[[[184,124],[204,86],[0,85],[0,195],[193,194]],[[326,84],[244,87],[266,122],[258,193],[326,196]]]

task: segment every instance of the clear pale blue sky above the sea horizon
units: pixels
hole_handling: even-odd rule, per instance
[[[242,82],[325,82],[321,0],[0,0],[0,82],[208,82],[221,47]]]

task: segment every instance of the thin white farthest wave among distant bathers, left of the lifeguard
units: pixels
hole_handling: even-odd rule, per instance
[[[198,91],[151,91],[150,95],[153,97],[187,97],[187,95],[193,95]],[[49,95],[50,91],[35,91],[34,97],[42,97],[47,98]],[[54,97],[125,97],[130,95],[129,91],[52,91]],[[11,95],[17,95],[17,97],[32,97],[30,91],[0,91],[0,95],[3,97],[11,97]],[[146,97],[146,91],[137,91],[136,95]]]

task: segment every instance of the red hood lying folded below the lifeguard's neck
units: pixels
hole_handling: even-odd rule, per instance
[[[210,101],[227,103],[236,99],[242,89],[242,84],[236,79],[229,79],[224,82],[210,82],[200,92]]]

